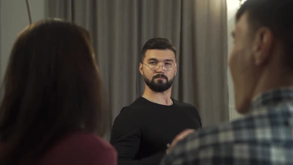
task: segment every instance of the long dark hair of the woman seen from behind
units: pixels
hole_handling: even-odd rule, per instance
[[[88,32],[73,23],[47,19],[25,28],[2,94],[0,165],[37,160],[73,131],[104,133],[102,81]]]

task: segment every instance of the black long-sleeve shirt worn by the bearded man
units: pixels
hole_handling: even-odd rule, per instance
[[[110,143],[118,151],[118,165],[158,165],[166,145],[181,131],[201,128],[194,106],[174,99],[170,106],[139,97],[116,117]]]

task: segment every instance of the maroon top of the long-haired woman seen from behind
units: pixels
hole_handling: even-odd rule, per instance
[[[36,165],[117,165],[117,152],[98,136],[76,132],[57,142]]]

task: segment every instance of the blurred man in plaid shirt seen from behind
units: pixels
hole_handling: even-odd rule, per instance
[[[293,0],[247,0],[229,66],[244,118],[192,133],[161,165],[293,165]]]

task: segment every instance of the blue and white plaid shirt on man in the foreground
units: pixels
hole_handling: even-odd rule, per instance
[[[293,165],[293,87],[256,96],[243,118],[180,141],[160,165]]]

